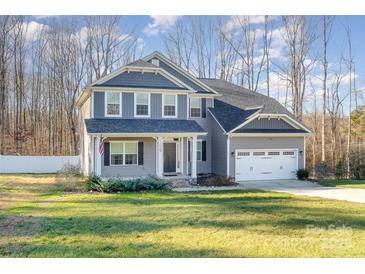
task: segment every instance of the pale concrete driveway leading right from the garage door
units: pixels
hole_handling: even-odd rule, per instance
[[[239,184],[245,189],[287,192],[301,196],[365,203],[365,189],[323,187],[317,183],[297,180],[246,181]]]

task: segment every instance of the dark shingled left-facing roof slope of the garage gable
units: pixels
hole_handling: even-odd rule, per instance
[[[258,109],[244,110],[218,99],[214,100],[214,108],[209,108],[209,110],[226,132],[231,131],[259,111]]]

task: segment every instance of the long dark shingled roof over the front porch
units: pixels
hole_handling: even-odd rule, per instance
[[[193,120],[85,119],[88,133],[205,133]]]

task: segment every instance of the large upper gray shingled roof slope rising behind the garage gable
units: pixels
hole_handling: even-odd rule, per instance
[[[262,107],[261,113],[293,115],[278,101],[269,96],[248,90],[220,79],[199,79],[204,84],[220,93],[219,100],[238,108],[247,109]]]

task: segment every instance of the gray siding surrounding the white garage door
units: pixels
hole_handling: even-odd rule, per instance
[[[293,148],[304,152],[304,137],[231,137],[230,139],[230,160],[229,174],[235,175],[235,156],[236,149],[285,149]],[[233,153],[233,154],[232,154]],[[299,153],[299,168],[304,167],[304,153]]]

